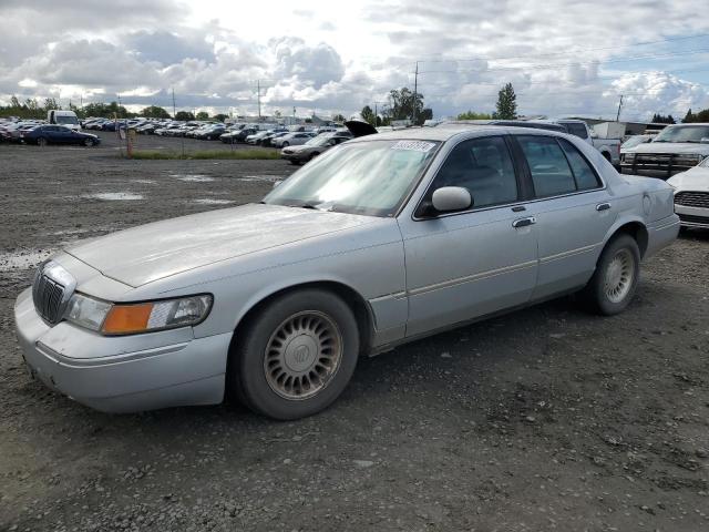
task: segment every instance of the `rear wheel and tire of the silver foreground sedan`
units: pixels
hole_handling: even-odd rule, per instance
[[[640,250],[630,235],[615,236],[604,248],[582,296],[590,310],[613,316],[633,300],[640,277]],[[608,283],[607,283],[608,282]]]

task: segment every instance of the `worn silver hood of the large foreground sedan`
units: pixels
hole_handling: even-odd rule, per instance
[[[171,275],[345,231],[378,218],[249,204],[156,222],[65,252],[106,277],[138,287]]]

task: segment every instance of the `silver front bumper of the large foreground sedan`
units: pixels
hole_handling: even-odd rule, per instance
[[[192,328],[104,337],[62,321],[49,327],[31,289],[14,305],[22,356],[49,388],[105,412],[222,402],[232,334],[194,338]]]

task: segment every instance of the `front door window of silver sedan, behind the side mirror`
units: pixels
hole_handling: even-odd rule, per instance
[[[516,201],[517,180],[504,139],[474,139],[455,146],[431,190],[442,186],[467,188],[473,197],[473,207]]]

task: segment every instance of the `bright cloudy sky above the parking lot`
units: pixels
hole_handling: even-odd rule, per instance
[[[706,1],[706,0],[705,0]],[[120,95],[254,113],[351,114],[413,88],[435,116],[494,109],[640,120],[709,108],[700,0],[0,0],[0,103]],[[260,81],[259,81],[260,80]]]

